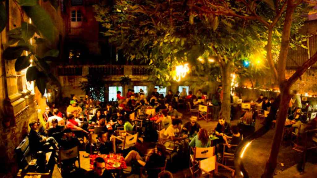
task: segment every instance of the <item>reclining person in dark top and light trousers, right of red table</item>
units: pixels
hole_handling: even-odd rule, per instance
[[[139,163],[140,166],[145,167],[146,169],[164,167],[166,159],[165,146],[161,144],[156,144],[155,149],[152,149],[148,152],[145,160],[137,151],[134,150],[130,151],[124,159],[126,163],[136,161]],[[149,173],[152,176],[149,175]],[[155,172],[155,170],[148,171],[149,177],[156,177],[158,174],[159,172]]]

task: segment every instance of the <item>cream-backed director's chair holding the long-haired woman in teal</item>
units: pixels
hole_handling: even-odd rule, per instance
[[[199,170],[199,159],[209,158],[215,155],[215,147],[207,147],[207,148],[192,148],[193,155],[190,155],[189,169],[191,171],[192,177],[195,177],[195,174],[199,173],[201,175],[201,171]],[[199,177],[198,176],[198,177]]]

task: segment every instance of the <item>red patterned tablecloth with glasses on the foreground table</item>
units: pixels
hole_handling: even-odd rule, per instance
[[[117,155],[116,154],[113,154],[113,157],[110,158],[110,155],[90,155],[89,158],[90,158],[90,169],[93,169],[94,168],[94,160],[97,158],[97,157],[102,157],[105,162],[106,162],[106,169],[107,170],[112,170],[112,169],[125,169],[126,168],[126,161],[124,160],[124,157],[121,156],[120,159],[117,159]],[[109,161],[111,160],[111,161]],[[113,167],[113,163],[115,162],[120,162],[120,167],[119,168],[114,168]]]

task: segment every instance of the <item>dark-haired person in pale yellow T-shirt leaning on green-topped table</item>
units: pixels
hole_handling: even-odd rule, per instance
[[[182,137],[176,137],[176,134],[179,133],[182,121],[180,119],[173,119],[172,124],[164,131],[162,137],[165,139],[170,139],[172,141],[183,140],[188,136],[185,134]]]

